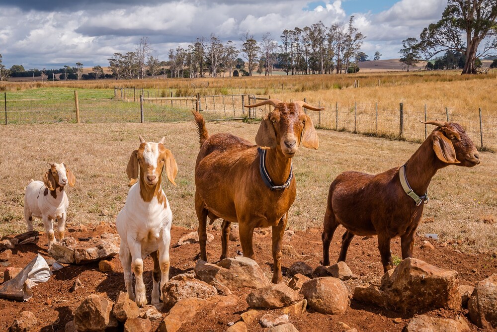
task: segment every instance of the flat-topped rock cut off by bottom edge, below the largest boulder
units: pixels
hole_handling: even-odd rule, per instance
[[[457,322],[452,319],[433,318],[426,315],[414,317],[405,332],[463,332],[470,331],[468,324],[459,316]]]

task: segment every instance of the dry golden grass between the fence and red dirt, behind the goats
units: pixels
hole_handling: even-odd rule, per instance
[[[250,141],[258,126],[239,122],[208,123],[215,132],[232,132]],[[174,214],[173,223],[195,228],[193,169],[198,138],[193,122],[169,124],[51,124],[15,125],[1,128],[0,233],[25,231],[23,193],[30,178],[41,179],[47,162],[65,162],[77,177],[68,188],[68,224],[114,222],[124,204],[128,187],[125,174],[138,135],[166,146],[178,167],[177,187],[165,191]],[[297,199],[290,210],[289,227],[321,228],[328,188],[344,170],[377,173],[404,163],[418,144],[319,130],[320,149],[302,148],[294,159]],[[497,246],[497,155],[482,153],[474,168],[450,166],[440,170],[428,189],[427,223],[419,232],[438,233],[443,240],[461,239],[467,250],[495,250]],[[43,230],[41,220],[36,220]],[[336,240],[341,231],[336,233]],[[467,239],[466,239],[467,238]]]

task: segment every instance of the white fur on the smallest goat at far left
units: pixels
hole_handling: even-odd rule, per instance
[[[62,165],[62,164],[61,164]],[[59,182],[61,178],[59,172]],[[64,168],[64,177],[67,183],[66,169]],[[60,184],[60,183],[59,183]],[[43,225],[48,237],[48,249],[52,248],[52,244],[56,242],[53,221],[57,219],[59,237],[64,238],[64,229],[66,224],[66,211],[69,207],[69,199],[64,189],[60,191],[60,187],[56,189],[57,198],[54,198],[48,190],[47,195],[44,191],[47,189],[42,181],[31,181],[26,187],[24,195],[24,218],[28,224],[28,231],[33,230],[33,222],[29,220],[30,217],[37,217],[43,219]]]

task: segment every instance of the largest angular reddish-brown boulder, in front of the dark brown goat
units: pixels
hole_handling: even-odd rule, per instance
[[[394,270],[387,271],[381,281],[356,287],[354,300],[401,313],[461,308],[457,272],[415,258],[404,259]]]

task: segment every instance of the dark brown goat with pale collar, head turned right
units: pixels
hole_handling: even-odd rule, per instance
[[[419,149],[405,164],[407,182],[412,191],[424,195],[431,178],[449,165],[473,167],[480,164],[479,153],[457,123],[426,122],[436,125]],[[418,203],[406,193],[395,167],[370,175],[347,171],[330,185],[323,231],[323,265],[330,264],[330,242],[338,225],[345,227],[338,261],[345,261],[350,241],[355,235],[378,235],[383,270],[393,267],[390,240],[401,237],[402,258],[413,256],[414,234],[427,198]],[[411,193],[411,195],[413,195]],[[414,195],[417,196],[417,195]]]

